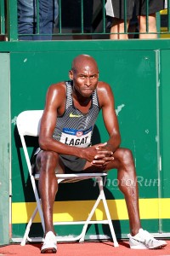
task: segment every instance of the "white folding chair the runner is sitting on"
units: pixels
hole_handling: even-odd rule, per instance
[[[44,219],[43,219],[43,213],[42,213],[42,207],[41,207],[41,199],[38,196],[37,186],[36,186],[36,180],[38,180],[39,175],[38,174],[32,175],[31,160],[30,160],[30,156],[27,151],[26,139],[25,139],[25,136],[38,137],[42,113],[43,113],[42,110],[24,111],[18,115],[17,120],[16,120],[16,124],[17,124],[18,131],[20,134],[20,140],[22,143],[24,154],[26,156],[26,163],[27,163],[28,171],[29,171],[29,174],[31,177],[32,189],[33,189],[36,201],[37,201],[37,207],[36,207],[35,211],[32,213],[32,216],[26,226],[26,232],[21,241],[22,246],[26,245],[26,241],[42,241],[42,239],[39,240],[36,238],[29,237],[31,224],[37,214],[37,211],[39,212],[41,222],[42,222],[42,229],[44,231]],[[68,237],[68,236],[66,236],[66,237],[64,236],[63,238],[58,237],[58,241],[78,241],[78,240],[84,241],[86,230],[88,229],[88,224],[109,224],[109,227],[111,230],[111,236],[112,236],[112,239],[114,242],[114,246],[118,247],[119,245],[118,245],[118,242],[116,241],[115,230],[114,230],[113,224],[111,222],[111,215],[109,212],[109,208],[107,206],[107,202],[105,200],[105,193],[104,193],[104,189],[103,189],[103,186],[104,186],[103,185],[103,177],[107,177],[107,174],[106,173],[56,174],[56,177],[58,178],[58,183],[65,182],[65,180],[67,182],[69,182],[69,181],[72,182],[73,180],[80,181],[80,180],[84,180],[84,179],[94,178],[94,179],[96,179],[96,183],[99,184],[99,196],[98,196],[97,200],[95,201],[94,207],[92,208],[91,212],[89,213],[87,220],[72,221],[72,222],[71,221],[70,222],[68,222],[68,221],[67,222],[55,222],[54,223],[54,224],[58,224],[58,225],[59,224],[83,224],[82,233],[76,237]],[[106,213],[106,219],[93,221],[93,220],[91,220],[91,218],[94,215],[95,209],[99,205],[99,201],[103,201],[105,213]]]

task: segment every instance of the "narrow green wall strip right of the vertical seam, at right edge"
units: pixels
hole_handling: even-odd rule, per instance
[[[169,145],[170,145],[170,112],[169,112],[169,96],[170,96],[170,49],[161,51],[161,82],[160,82],[160,130],[161,130],[161,195],[168,198],[170,195],[169,186]],[[162,221],[162,230],[169,232],[170,221],[164,219]]]

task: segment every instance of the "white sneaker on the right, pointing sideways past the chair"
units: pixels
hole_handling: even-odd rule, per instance
[[[130,234],[127,236],[131,249],[156,249],[167,246],[166,241],[156,240],[148,231],[143,229],[139,229],[139,233],[136,236],[131,236]]]

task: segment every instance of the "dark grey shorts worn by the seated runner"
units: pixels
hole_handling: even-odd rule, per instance
[[[37,151],[34,154],[34,157],[32,160],[33,165],[36,161],[37,154],[40,151],[42,151],[42,150],[40,148],[37,148]],[[77,156],[66,155],[66,154],[60,154],[59,158],[62,161],[63,165],[65,166],[65,173],[82,172],[82,170],[86,164],[86,161],[87,161],[87,160],[79,158]],[[58,173],[57,170],[55,171],[55,173]]]

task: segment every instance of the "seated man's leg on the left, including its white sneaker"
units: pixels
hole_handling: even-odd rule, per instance
[[[59,154],[52,151],[41,151],[37,154],[35,171],[40,173],[38,189],[42,201],[42,212],[45,224],[45,237],[41,247],[41,253],[57,252],[57,238],[53,223],[54,200],[58,191],[55,171],[57,168],[58,173],[64,172],[59,162]]]

